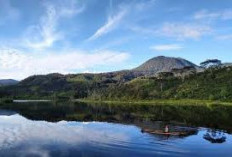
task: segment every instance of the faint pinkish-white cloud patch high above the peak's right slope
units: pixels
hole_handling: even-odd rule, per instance
[[[209,26],[185,23],[166,23],[156,31],[158,35],[184,39],[199,39],[209,34],[212,29]]]

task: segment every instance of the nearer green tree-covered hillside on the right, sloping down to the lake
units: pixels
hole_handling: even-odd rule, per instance
[[[204,99],[232,101],[232,67],[208,69],[188,77],[136,78],[119,86],[98,89],[92,99]],[[97,94],[98,93],[98,94]]]

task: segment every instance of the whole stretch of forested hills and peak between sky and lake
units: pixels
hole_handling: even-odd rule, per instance
[[[199,69],[203,68],[186,60],[157,58],[133,70],[102,74],[31,76],[16,85],[1,87],[0,96],[24,99],[152,100],[170,98],[232,101],[230,94],[232,93],[232,67],[229,64],[225,66],[218,60],[208,60],[202,63],[204,70],[199,72]],[[174,60],[167,61],[171,65],[166,64],[166,60],[169,59]],[[213,65],[208,67],[209,63]],[[156,68],[152,71],[153,64],[161,70],[157,71]],[[149,73],[144,73],[146,71]]]

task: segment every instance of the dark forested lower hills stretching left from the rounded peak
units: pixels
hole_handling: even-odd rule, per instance
[[[111,85],[123,84],[142,76],[131,71],[118,71],[100,74],[58,73],[30,76],[17,85],[0,88],[0,96],[17,98],[38,97],[87,97],[94,89],[107,88]]]

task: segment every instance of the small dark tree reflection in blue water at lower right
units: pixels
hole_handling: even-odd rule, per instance
[[[213,129],[208,129],[203,138],[211,143],[224,143],[226,141],[224,132]]]

